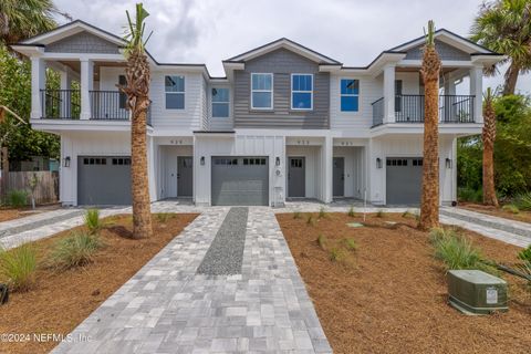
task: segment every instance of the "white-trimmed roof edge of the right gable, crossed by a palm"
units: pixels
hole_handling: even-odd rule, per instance
[[[451,31],[448,31],[446,29],[440,29],[435,31],[435,39],[440,40],[447,44],[450,44],[466,53],[469,54],[482,54],[482,55],[500,55],[499,53],[492,52],[486,46],[482,46],[478,43],[475,43],[470,41],[469,39],[461,37],[459,34],[456,34]],[[418,46],[425,42],[425,37],[418,37],[414,40],[407,41],[405,43],[402,43],[397,46],[394,46],[389,49],[389,51],[399,51],[399,52],[405,52],[409,49],[413,49],[415,46]]]

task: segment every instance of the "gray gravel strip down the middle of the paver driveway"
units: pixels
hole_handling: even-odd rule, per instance
[[[209,275],[241,273],[249,208],[230,208],[197,272]]]

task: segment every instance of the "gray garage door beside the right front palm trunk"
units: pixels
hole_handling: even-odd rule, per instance
[[[386,162],[387,205],[419,205],[421,157],[389,157]]]

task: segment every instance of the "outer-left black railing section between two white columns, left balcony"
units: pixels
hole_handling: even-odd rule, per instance
[[[42,116],[50,119],[79,119],[79,90],[41,90]]]

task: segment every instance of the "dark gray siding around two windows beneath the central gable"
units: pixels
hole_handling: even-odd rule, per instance
[[[273,73],[273,110],[251,110],[251,73]],[[291,74],[313,74],[313,111],[291,111]],[[235,74],[235,127],[330,128],[330,75],[319,65],[284,49],[246,63]]]

